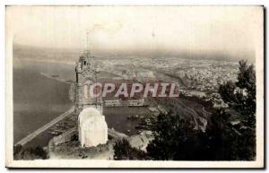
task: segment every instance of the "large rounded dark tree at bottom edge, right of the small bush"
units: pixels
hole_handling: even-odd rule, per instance
[[[209,160],[206,134],[171,112],[158,116],[154,140],[147,147],[152,160]]]

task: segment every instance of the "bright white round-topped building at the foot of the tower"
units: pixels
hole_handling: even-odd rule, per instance
[[[79,115],[79,140],[82,147],[97,146],[108,141],[108,125],[96,108],[83,108]]]

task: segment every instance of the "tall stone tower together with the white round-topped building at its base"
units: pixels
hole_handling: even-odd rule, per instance
[[[108,125],[102,116],[102,98],[90,97],[91,85],[97,82],[98,74],[98,67],[94,65],[87,48],[75,65],[75,112],[79,115],[78,131],[82,147],[97,146],[108,141]]]

